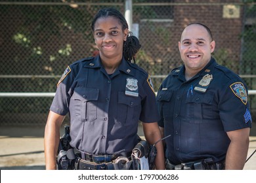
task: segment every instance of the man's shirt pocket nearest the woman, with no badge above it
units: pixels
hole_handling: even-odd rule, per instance
[[[160,104],[160,114],[163,114],[165,120],[171,119],[171,96],[173,92],[170,90],[161,90],[158,92],[156,100]]]

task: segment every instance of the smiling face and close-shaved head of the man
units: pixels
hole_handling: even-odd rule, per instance
[[[188,73],[198,73],[209,63],[215,41],[205,27],[199,24],[188,25],[181,35],[179,51]]]

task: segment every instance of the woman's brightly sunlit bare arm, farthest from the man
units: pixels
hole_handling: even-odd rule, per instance
[[[60,142],[60,125],[65,116],[56,114],[50,110],[45,125],[45,167],[46,169],[56,169],[56,154],[58,143]]]

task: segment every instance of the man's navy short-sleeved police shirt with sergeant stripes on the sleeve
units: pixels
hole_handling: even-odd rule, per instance
[[[247,86],[242,78],[214,58],[186,81],[184,65],[173,69],[157,95],[171,163],[202,158],[222,161],[230,139],[226,132],[251,127]]]

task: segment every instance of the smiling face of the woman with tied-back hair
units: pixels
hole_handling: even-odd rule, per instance
[[[100,52],[100,58],[118,58],[123,56],[123,41],[127,39],[128,30],[114,16],[98,18],[95,22],[93,36]]]

